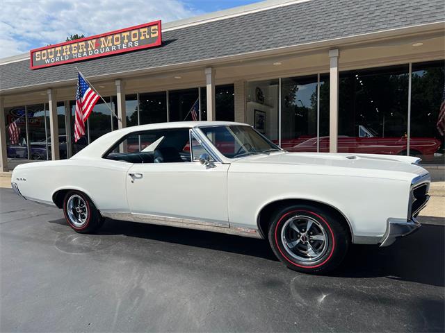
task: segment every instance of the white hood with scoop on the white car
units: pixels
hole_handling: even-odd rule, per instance
[[[416,165],[419,161],[420,159],[417,157],[399,155],[283,152],[271,153],[270,155],[252,155],[237,160],[236,162],[399,171],[423,176],[428,173],[428,171]]]

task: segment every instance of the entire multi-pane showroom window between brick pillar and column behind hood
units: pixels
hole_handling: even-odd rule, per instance
[[[246,121],[287,151],[323,151],[323,144],[329,148],[328,80],[316,74],[249,82]]]

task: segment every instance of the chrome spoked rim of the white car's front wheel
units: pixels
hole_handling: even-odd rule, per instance
[[[309,216],[288,219],[281,230],[284,250],[300,262],[316,262],[323,257],[329,239],[323,225]]]

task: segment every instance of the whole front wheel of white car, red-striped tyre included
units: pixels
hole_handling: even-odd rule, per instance
[[[339,266],[350,243],[347,226],[329,210],[292,205],[278,210],[268,239],[277,257],[294,271],[325,273]]]

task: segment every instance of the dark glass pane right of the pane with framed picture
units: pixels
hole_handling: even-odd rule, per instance
[[[282,139],[286,151],[317,151],[317,76],[282,78]]]

